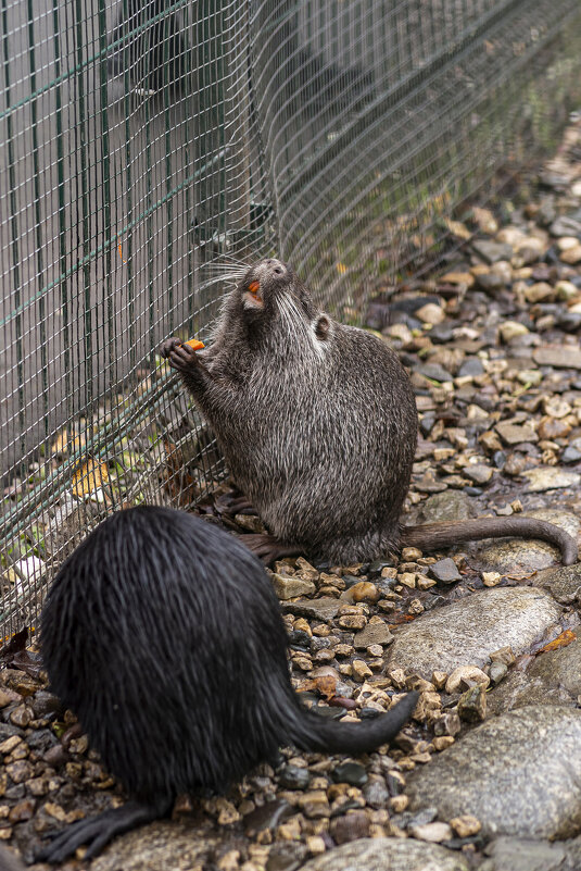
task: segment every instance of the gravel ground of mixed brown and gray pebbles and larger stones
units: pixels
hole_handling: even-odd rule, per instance
[[[447,266],[386,288],[366,315],[417,393],[404,520],[526,512],[578,535],[581,127],[501,211],[452,222],[462,245]],[[236,525],[261,528],[245,514]],[[270,575],[306,704],[356,720],[418,688],[413,722],[356,760],[283,749],[276,771],[179,799],[172,821],[63,869],[580,867],[580,567],[503,540],[370,564],[289,559]],[[47,693],[34,647],[7,663],[0,838],[30,860],[45,834],[123,793]]]

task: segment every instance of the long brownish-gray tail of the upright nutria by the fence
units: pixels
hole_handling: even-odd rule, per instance
[[[427,523],[425,526],[402,526],[402,547],[420,550],[439,550],[458,542],[478,542],[481,538],[541,538],[558,547],[564,565],[577,562],[577,542],[545,520],[535,518],[477,518],[452,523]]]

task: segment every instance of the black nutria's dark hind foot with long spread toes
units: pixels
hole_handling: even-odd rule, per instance
[[[172,805],[173,801],[163,807],[127,801],[126,805],[105,810],[98,817],[78,820],[67,825],[62,832],[58,832],[53,836],[52,843],[37,853],[35,862],[51,862],[52,864],[63,862],[83,844],[88,844],[85,859],[90,859],[101,853],[115,835],[165,817],[172,810]]]

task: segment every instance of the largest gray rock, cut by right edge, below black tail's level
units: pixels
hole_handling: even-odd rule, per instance
[[[471,813],[484,836],[565,838],[581,829],[581,711],[530,707],[483,723],[408,777],[411,809]]]

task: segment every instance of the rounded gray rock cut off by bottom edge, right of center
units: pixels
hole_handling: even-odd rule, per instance
[[[302,871],[468,871],[457,853],[412,838],[364,837],[316,856]]]

